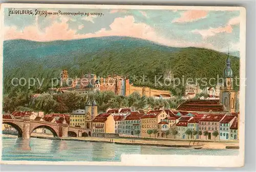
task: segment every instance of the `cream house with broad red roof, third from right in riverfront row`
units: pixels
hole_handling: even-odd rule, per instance
[[[220,131],[220,121],[225,116],[226,116],[226,114],[207,114],[207,115],[203,116],[199,120],[199,131],[202,131],[202,133],[207,131],[208,135],[201,137],[201,139],[215,140],[215,137],[212,136],[212,133],[214,131],[218,131],[218,133],[220,133],[219,132]],[[219,136],[216,138],[219,139]]]

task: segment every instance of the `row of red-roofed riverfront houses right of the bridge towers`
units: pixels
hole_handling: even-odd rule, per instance
[[[113,133],[134,137],[154,135],[156,138],[176,139],[238,139],[236,114],[198,114],[170,109],[151,110],[147,113],[130,110],[125,115],[116,112],[109,110],[92,120],[93,136]]]

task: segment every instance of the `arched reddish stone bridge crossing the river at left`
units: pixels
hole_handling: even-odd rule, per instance
[[[54,137],[65,138],[69,133],[76,137],[91,136],[92,129],[83,129],[79,127],[71,127],[68,124],[57,124],[53,122],[31,120],[29,117],[24,119],[5,119],[3,124],[8,124],[18,131],[18,137],[30,139],[32,132],[39,128],[50,130]]]

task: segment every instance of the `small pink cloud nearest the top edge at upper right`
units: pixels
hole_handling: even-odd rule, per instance
[[[204,10],[188,10],[183,12],[180,18],[176,18],[172,22],[193,22],[205,18],[207,14],[208,11]]]

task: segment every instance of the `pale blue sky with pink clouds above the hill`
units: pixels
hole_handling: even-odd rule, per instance
[[[16,8],[16,10],[18,10]],[[24,10],[24,9],[22,9]],[[33,13],[35,9],[32,10]],[[239,51],[240,11],[37,9],[48,12],[93,12],[89,16],[8,15],[5,40],[53,41],[102,36],[129,36],[173,47]]]

